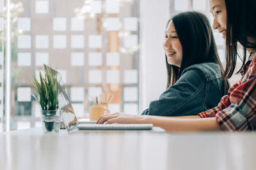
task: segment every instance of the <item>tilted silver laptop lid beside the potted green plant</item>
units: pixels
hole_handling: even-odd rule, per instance
[[[63,123],[67,131],[70,132],[74,129],[77,129],[77,117],[73,110],[70,98],[68,97],[68,93],[64,85],[64,82],[61,78],[60,72],[56,71],[55,69],[52,69],[52,67],[46,66],[45,64],[44,69],[50,69],[53,73],[57,74],[58,87],[60,90],[60,94],[58,96],[59,108],[61,110],[61,117],[63,119]]]

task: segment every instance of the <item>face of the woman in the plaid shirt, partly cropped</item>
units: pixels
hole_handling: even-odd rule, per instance
[[[226,39],[227,10],[225,0],[210,0],[210,9],[214,17],[213,29],[218,29],[218,32],[222,34],[222,38]]]

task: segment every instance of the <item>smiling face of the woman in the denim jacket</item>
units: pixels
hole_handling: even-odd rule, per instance
[[[172,21],[168,24],[165,31],[163,47],[168,64],[180,67],[182,46]]]

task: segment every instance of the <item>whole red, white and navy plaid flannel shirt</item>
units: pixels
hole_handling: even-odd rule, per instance
[[[242,78],[228,89],[215,108],[198,113],[202,118],[216,117],[227,131],[256,130],[256,52],[250,54]]]

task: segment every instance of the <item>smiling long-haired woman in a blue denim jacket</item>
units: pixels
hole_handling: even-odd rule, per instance
[[[163,47],[166,91],[141,115],[188,116],[216,106],[229,86],[221,79],[223,67],[207,17],[195,11],[175,15],[168,21]]]

